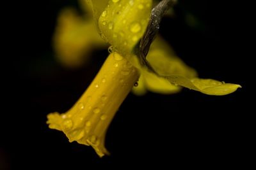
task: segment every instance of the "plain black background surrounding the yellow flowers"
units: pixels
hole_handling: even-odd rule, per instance
[[[46,115],[67,111],[93,80],[108,55],[94,52],[81,69],[62,67],[51,41],[58,11],[76,1],[37,1],[11,6],[3,55],[0,112],[0,169],[88,169],[97,167],[242,167],[253,159],[255,136],[249,111],[249,4],[234,1],[179,1],[175,17],[164,18],[160,33],[200,77],[238,83],[228,96],[184,89],[163,96],[129,94],[106,137],[111,156],[68,143],[48,129]],[[195,22],[188,22],[188,15]],[[252,21],[251,21],[252,22]],[[251,76],[252,77],[252,76]]]

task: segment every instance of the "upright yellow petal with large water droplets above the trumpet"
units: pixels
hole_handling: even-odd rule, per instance
[[[113,49],[125,57],[145,32],[152,0],[109,1],[99,18],[101,34]],[[131,57],[131,56],[130,56]]]

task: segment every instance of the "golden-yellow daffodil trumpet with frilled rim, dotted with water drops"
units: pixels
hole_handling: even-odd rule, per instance
[[[70,142],[90,145],[102,157],[106,131],[119,106],[139,78],[139,71],[118,53],[111,53],[91,85],[67,113],[51,113],[47,124],[63,131]]]

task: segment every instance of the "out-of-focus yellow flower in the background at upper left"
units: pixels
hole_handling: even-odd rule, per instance
[[[93,20],[84,19],[72,8],[60,12],[53,40],[56,57],[67,67],[83,65],[95,46],[106,46],[95,30]]]

